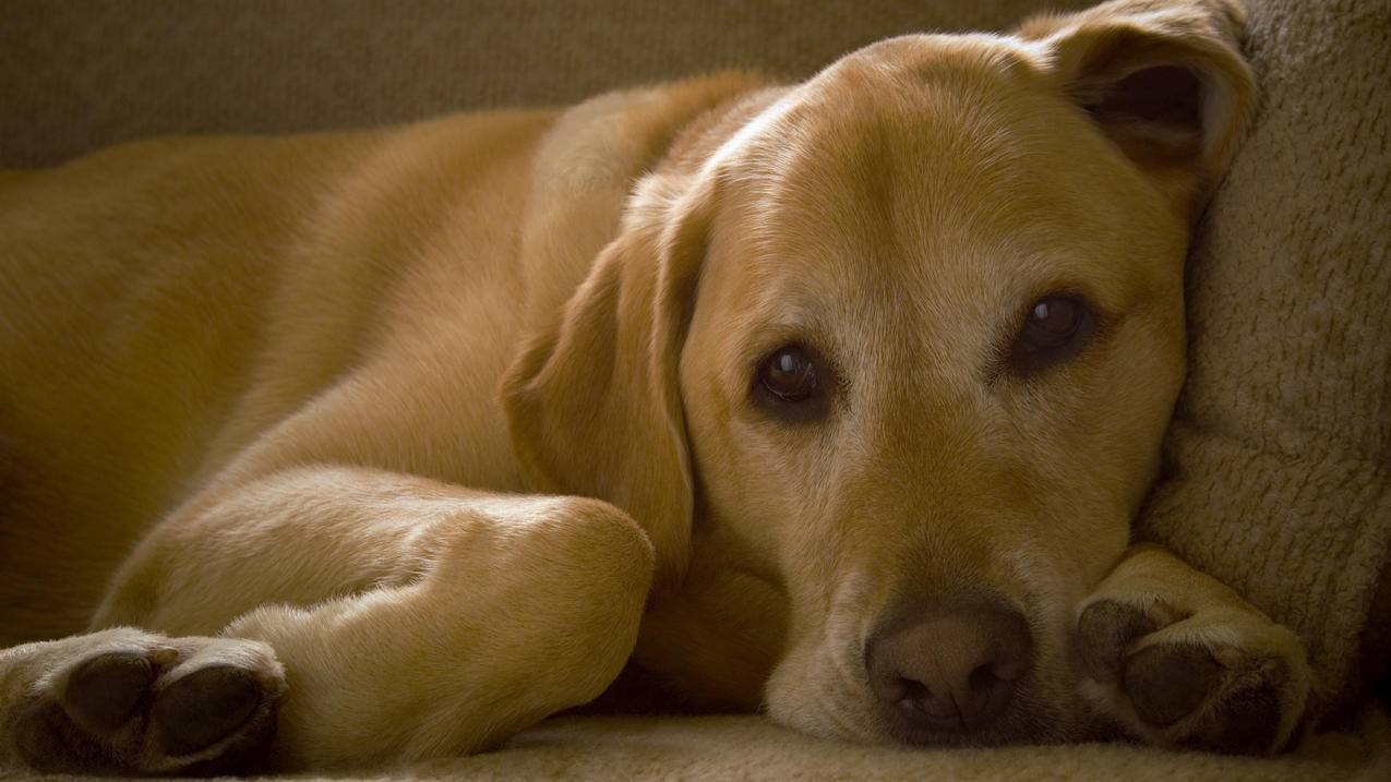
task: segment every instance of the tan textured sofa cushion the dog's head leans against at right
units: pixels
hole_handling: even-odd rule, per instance
[[[1189,259],[1174,477],[1142,534],[1346,693],[1391,540],[1391,1],[1252,3],[1249,38],[1263,104]]]

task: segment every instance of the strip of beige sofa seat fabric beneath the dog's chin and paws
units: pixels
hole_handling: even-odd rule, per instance
[[[1298,754],[1274,760],[1175,753],[1117,744],[915,750],[867,747],[793,733],[757,717],[566,718],[512,740],[508,749],[370,774],[298,779],[405,782],[424,779],[604,779],[726,782],[768,779],[985,782],[1017,779],[1125,782],[1323,782],[1391,779],[1385,717],[1365,732],[1323,736]],[[43,776],[47,782],[89,782]],[[38,782],[38,779],[35,781]]]

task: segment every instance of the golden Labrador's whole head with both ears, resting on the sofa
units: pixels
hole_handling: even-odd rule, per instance
[[[821,733],[1064,737],[1253,100],[1221,3],[917,35],[696,124],[504,388],[658,552],[637,658]]]

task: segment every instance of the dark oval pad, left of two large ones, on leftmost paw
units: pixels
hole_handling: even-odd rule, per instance
[[[83,728],[113,733],[140,708],[154,682],[154,667],[143,655],[108,653],[79,664],[61,696],[63,708]]]

